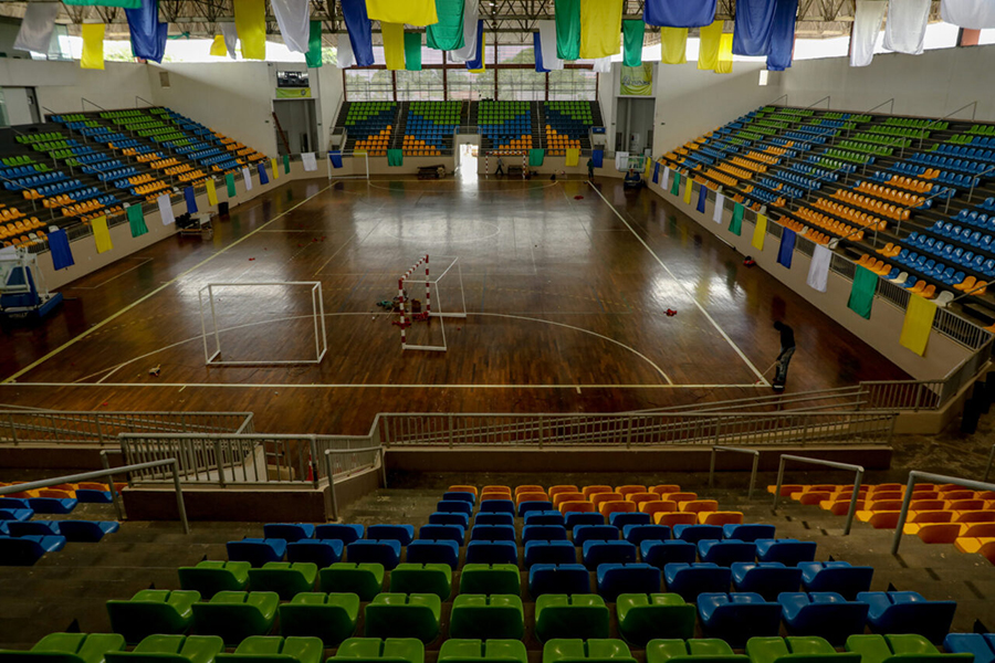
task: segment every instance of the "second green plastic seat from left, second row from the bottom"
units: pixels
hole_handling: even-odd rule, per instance
[[[274,591],[219,591],[210,601],[193,604],[197,632],[220,635],[226,644],[265,635],[273,628],[279,604]]]

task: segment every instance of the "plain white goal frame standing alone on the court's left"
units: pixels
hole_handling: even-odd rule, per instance
[[[321,282],[209,283],[198,297],[207,366],[321,364],[328,351]]]

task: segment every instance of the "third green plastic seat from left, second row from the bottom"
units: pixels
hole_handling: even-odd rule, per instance
[[[449,568],[449,567],[447,567]],[[355,593],[305,592],[279,608],[280,633],[321,638],[333,646],[353,635],[359,617]]]

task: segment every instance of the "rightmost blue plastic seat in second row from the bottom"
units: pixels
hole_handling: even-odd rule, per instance
[[[867,621],[877,633],[915,633],[934,644],[943,642],[953,623],[956,601],[929,601],[918,591],[862,591]]]

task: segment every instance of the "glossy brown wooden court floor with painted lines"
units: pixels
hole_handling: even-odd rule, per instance
[[[465,301],[444,352],[402,351],[376,306],[425,254],[436,275],[459,259],[432,294],[437,311]],[[315,355],[308,286],[248,284],[315,281],[320,365],[205,366],[206,285],[242,285],[216,290],[224,359],[293,360]],[[291,182],[211,241],[170,238],[62,292],[49,320],[3,329],[0,403],[250,410],[263,431],[327,434],[366,432],[380,411],[645,409],[771,393],[757,381],[775,319],[796,330],[789,390],[908,378],[657,196],[608,179]],[[416,323],[408,340],[439,345],[442,325]]]

